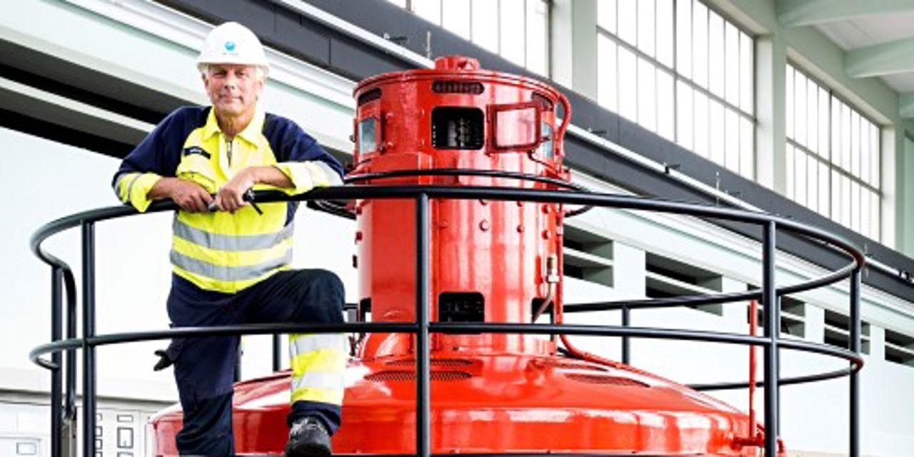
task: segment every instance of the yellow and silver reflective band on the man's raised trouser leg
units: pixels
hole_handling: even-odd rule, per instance
[[[293,334],[289,346],[292,403],[306,400],[342,405],[345,335]]]

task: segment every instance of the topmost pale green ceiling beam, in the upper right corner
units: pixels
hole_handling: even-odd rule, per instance
[[[898,11],[914,11],[914,0],[779,0],[778,18],[783,27],[824,24]]]

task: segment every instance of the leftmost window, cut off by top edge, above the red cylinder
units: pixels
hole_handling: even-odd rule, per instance
[[[548,75],[548,0],[389,0],[517,65]]]

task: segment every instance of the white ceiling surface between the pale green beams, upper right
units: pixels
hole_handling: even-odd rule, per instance
[[[815,27],[845,50],[866,48],[914,37],[914,12],[860,16]],[[880,78],[899,93],[914,92],[914,73],[899,73]]]

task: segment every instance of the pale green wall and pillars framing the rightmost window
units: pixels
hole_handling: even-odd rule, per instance
[[[757,112],[760,131],[760,170],[771,169],[773,187],[783,190],[784,103],[783,69],[786,60],[823,80],[883,127],[883,235],[882,243],[914,257],[914,157],[906,149],[905,130],[914,129],[899,115],[898,92],[878,78],[852,79],[845,73],[845,51],[815,27],[781,27],[776,0],[708,0],[717,10],[749,27],[759,37]],[[768,53],[770,55],[762,55]],[[768,68],[768,66],[773,66]],[[768,97],[768,101],[763,98]],[[773,98],[774,100],[771,100]],[[768,176],[762,173],[760,181]],[[893,222],[887,224],[887,221]]]

